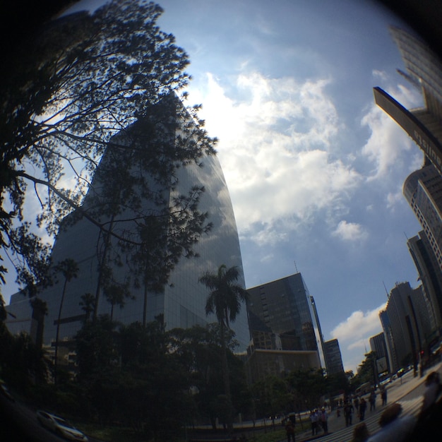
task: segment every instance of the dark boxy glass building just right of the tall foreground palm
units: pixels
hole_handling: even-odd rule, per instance
[[[301,273],[247,291],[252,338],[247,362],[249,381],[253,383],[268,374],[320,369],[321,339],[314,301]]]

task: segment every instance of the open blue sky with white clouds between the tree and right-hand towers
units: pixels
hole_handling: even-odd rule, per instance
[[[388,31],[407,26],[368,0],[158,4],[189,54],[188,102],[219,139],[246,287],[300,272],[356,372],[390,289],[418,285],[407,238],[421,228],[402,184],[423,156],[373,95],[422,106]]]

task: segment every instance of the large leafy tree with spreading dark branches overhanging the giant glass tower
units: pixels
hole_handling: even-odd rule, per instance
[[[143,129],[152,129],[148,136],[156,132],[159,140],[165,128],[149,119],[153,105],[189,81],[184,71],[187,54],[174,44],[173,35],[157,26],[161,13],[160,6],[145,0],[110,1],[92,14],[55,20],[37,36],[23,39],[8,65],[13,71],[0,84],[0,247],[2,255],[11,256],[20,283],[40,287],[45,277],[40,268],[45,268],[50,253],[50,245],[40,239],[43,232],[36,232],[34,223],[25,220],[23,207],[30,199],[40,205],[37,226],[45,227],[51,238],[83,217],[100,229],[103,244],[110,244],[113,237],[142,247],[140,237],[125,236],[124,229],[116,228],[124,220],[117,219],[121,205],[112,205],[117,189],[109,179],[104,185],[109,198],[95,208],[82,205],[86,191],[92,194],[91,188],[100,182],[94,175],[104,152],[117,160],[124,155],[126,162],[107,165],[115,172],[112,179],[120,185],[119,196],[134,212],[140,206],[134,186],[143,186],[133,176],[135,160],[157,177],[154,180],[162,177],[173,183],[177,167],[215,153],[215,139],[207,136],[203,121],[197,118],[198,107],[187,109],[193,129],[189,126],[187,133],[177,136],[173,149],[165,143],[146,149],[140,144],[141,135],[129,144],[115,137],[143,121]],[[190,131],[191,137],[187,136]],[[70,185],[64,186],[68,181]],[[179,225],[179,232],[193,222],[196,236],[204,230],[205,217],[196,210],[202,190],[191,189],[185,196],[190,203],[181,200],[174,208],[175,213],[190,214],[188,225]],[[156,196],[147,186],[143,198]],[[138,213],[137,217],[157,215]],[[181,220],[179,215],[173,220],[171,213],[161,215],[169,215],[167,225]],[[172,263],[177,255],[191,250],[191,244],[186,250],[186,241],[177,244]],[[109,253],[104,247],[103,266],[119,258],[119,253]],[[5,272],[0,267],[0,279]],[[101,289],[97,287],[95,317]]]

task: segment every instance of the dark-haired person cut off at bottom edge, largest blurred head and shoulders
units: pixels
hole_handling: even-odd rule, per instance
[[[367,442],[405,441],[416,425],[416,417],[412,414],[399,417],[401,412],[402,405],[398,402],[389,405],[379,419],[381,429],[374,436],[369,437]]]

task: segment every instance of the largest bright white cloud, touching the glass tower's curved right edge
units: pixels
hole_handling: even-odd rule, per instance
[[[210,73],[192,100],[220,138],[218,157],[234,205],[239,232],[255,241],[278,241],[273,223],[287,229],[308,223],[318,210],[340,210],[361,181],[330,150],[342,123],[325,88],[330,80],[297,83],[294,78],[240,74],[234,90]]]

